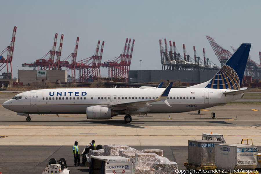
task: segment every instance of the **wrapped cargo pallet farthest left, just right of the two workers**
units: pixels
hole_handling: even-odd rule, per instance
[[[104,156],[119,156],[119,150],[136,150],[124,144],[106,144],[104,145]]]

